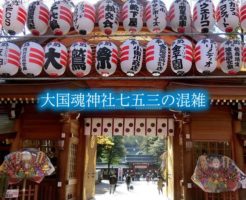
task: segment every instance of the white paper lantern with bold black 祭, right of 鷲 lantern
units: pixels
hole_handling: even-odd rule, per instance
[[[96,48],[96,70],[102,76],[114,74],[118,64],[118,48],[112,42],[100,42]]]

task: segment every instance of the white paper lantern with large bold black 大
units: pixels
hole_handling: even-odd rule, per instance
[[[67,66],[67,48],[60,42],[50,42],[45,47],[45,72],[53,77],[64,74]]]

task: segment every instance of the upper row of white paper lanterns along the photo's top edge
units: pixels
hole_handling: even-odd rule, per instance
[[[42,1],[32,2],[28,11],[18,1],[6,3],[0,9],[0,22],[11,35],[22,32],[26,23],[33,35],[45,34],[49,26],[55,35],[64,35],[72,24],[78,33],[85,35],[93,31],[96,19],[100,30],[110,35],[118,30],[120,18],[124,29],[132,33],[141,31],[144,20],[153,33],[162,32],[168,23],[175,32],[189,32],[192,18],[199,32],[209,32],[215,22],[222,31],[232,32],[240,24],[246,30],[246,2],[239,9],[236,0],[221,0],[215,11],[212,0],[198,0],[193,17],[187,0],[174,0],[169,12],[161,0],[149,1],[145,9],[137,0],[128,0],[121,10],[113,0],[105,0],[97,12],[92,3],[82,1],[72,13],[65,0],[56,1],[50,10]]]

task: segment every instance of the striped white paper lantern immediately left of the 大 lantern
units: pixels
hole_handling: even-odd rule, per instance
[[[38,76],[44,65],[44,49],[35,42],[26,42],[21,47],[21,71],[27,76]]]

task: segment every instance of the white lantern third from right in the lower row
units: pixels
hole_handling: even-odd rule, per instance
[[[171,68],[177,75],[190,71],[193,61],[192,43],[187,39],[177,39],[171,47]]]

